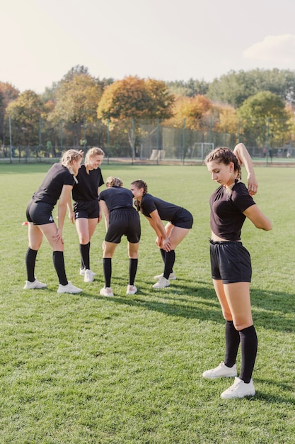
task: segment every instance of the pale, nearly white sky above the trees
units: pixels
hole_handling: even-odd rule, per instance
[[[295,70],[294,0],[0,0],[0,81],[37,93],[93,77],[214,78]]]

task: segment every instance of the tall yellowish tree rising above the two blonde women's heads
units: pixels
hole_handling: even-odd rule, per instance
[[[57,87],[56,104],[49,116],[49,120],[56,126],[60,126],[62,121],[72,131],[73,145],[76,147],[80,142],[86,145],[86,125],[96,120],[96,109],[102,94],[96,79],[85,71],[83,69],[81,73],[71,71],[66,74]]]

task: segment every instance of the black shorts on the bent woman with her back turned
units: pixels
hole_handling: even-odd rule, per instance
[[[130,243],[138,243],[141,235],[139,213],[136,209],[117,209],[110,212],[110,225],[105,240],[120,243],[122,235],[127,236]]]

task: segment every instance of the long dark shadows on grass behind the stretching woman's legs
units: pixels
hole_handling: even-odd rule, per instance
[[[118,279],[114,279],[117,282]],[[141,307],[150,311],[166,313],[168,316],[195,318],[200,321],[224,323],[219,301],[214,289],[203,287],[207,282],[195,281],[195,287],[182,284],[171,284],[165,289],[139,289],[133,296],[84,296],[96,299],[111,299],[117,304]],[[145,282],[149,285],[151,282]],[[294,294],[270,292],[261,289],[250,289],[253,318],[255,326],[272,331],[295,331]]]

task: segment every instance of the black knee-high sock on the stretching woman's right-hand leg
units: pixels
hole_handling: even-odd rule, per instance
[[[258,338],[254,326],[243,328],[240,332],[242,365],[239,378],[246,384],[252,377],[257,355]]]

